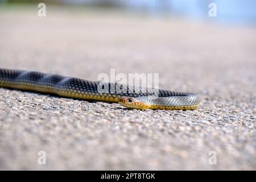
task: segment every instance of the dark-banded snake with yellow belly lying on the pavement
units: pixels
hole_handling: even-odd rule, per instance
[[[89,81],[34,71],[0,68],[0,87],[55,94],[81,100],[117,102],[132,109],[194,110],[199,96],[187,92],[129,86],[118,82]]]

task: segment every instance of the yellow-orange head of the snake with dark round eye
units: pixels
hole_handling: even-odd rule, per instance
[[[135,97],[121,97],[119,98],[118,103],[128,108],[147,109],[146,104]]]

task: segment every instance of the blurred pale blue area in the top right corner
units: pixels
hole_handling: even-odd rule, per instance
[[[130,0],[126,3],[129,7],[144,9],[156,15],[176,15],[223,23],[256,23],[255,0]],[[208,15],[209,3],[216,3],[216,18]]]

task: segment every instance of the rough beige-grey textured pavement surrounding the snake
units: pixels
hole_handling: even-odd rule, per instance
[[[110,68],[159,73],[160,88],[201,97],[194,111],[141,111],[0,88],[0,169],[256,169],[255,28],[51,7],[46,18],[37,7],[0,12],[1,68],[88,80]]]

